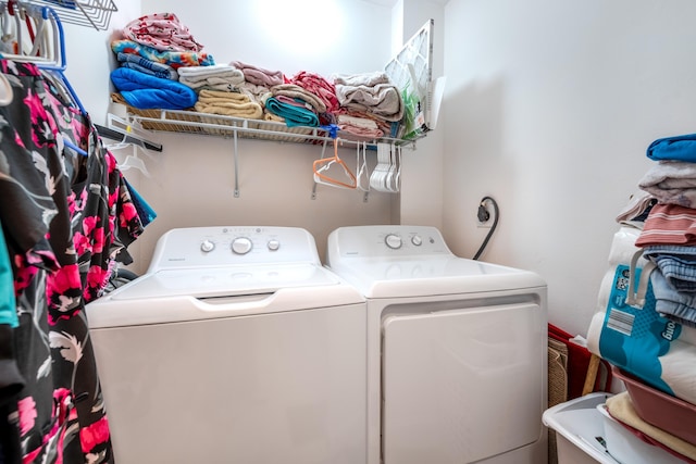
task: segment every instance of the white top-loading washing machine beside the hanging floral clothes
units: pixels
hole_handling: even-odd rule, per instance
[[[87,305],[119,464],[365,462],[365,302],[288,227],[173,229]]]

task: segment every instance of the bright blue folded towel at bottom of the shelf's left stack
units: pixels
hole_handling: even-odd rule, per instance
[[[186,110],[198,99],[196,92],[184,84],[127,67],[112,71],[111,81],[126,103],[140,110]]]

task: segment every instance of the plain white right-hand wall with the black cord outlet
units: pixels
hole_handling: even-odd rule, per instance
[[[473,254],[492,195],[501,218],[483,259],[539,273],[550,322],[586,334],[647,146],[696,126],[696,3],[450,0],[445,13],[446,236]]]

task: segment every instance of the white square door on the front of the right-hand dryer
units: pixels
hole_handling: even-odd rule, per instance
[[[477,462],[542,437],[538,304],[393,315],[383,337],[385,464]]]

